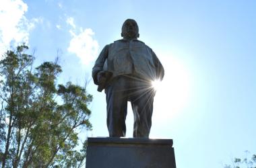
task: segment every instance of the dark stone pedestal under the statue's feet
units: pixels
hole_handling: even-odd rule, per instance
[[[176,168],[172,140],[88,138],[86,168]]]

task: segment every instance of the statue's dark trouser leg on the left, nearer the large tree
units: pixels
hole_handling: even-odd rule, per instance
[[[118,77],[106,88],[106,124],[110,137],[125,136],[125,119],[127,116],[127,83],[125,78]]]

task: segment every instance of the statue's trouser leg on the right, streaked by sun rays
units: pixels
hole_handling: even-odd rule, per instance
[[[148,138],[152,125],[155,92],[152,87],[147,84],[135,85],[135,87],[137,90],[131,100],[134,116],[133,137]]]

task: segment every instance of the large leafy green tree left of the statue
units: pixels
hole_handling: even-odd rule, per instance
[[[28,46],[8,50],[0,61],[0,163],[2,167],[82,167],[78,131],[90,130],[92,95],[71,82],[57,85],[61,67],[33,68]],[[80,145],[81,146],[81,145]]]

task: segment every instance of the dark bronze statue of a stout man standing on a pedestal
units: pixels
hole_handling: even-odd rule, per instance
[[[106,45],[92,69],[98,91],[105,90],[110,137],[125,136],[127,101],[131,102],[133,137],[148,138],[155,91],[152,81],[162,80],[164,68],[153,50],[139,38],[134,19],[123,23],[123,39]]]

